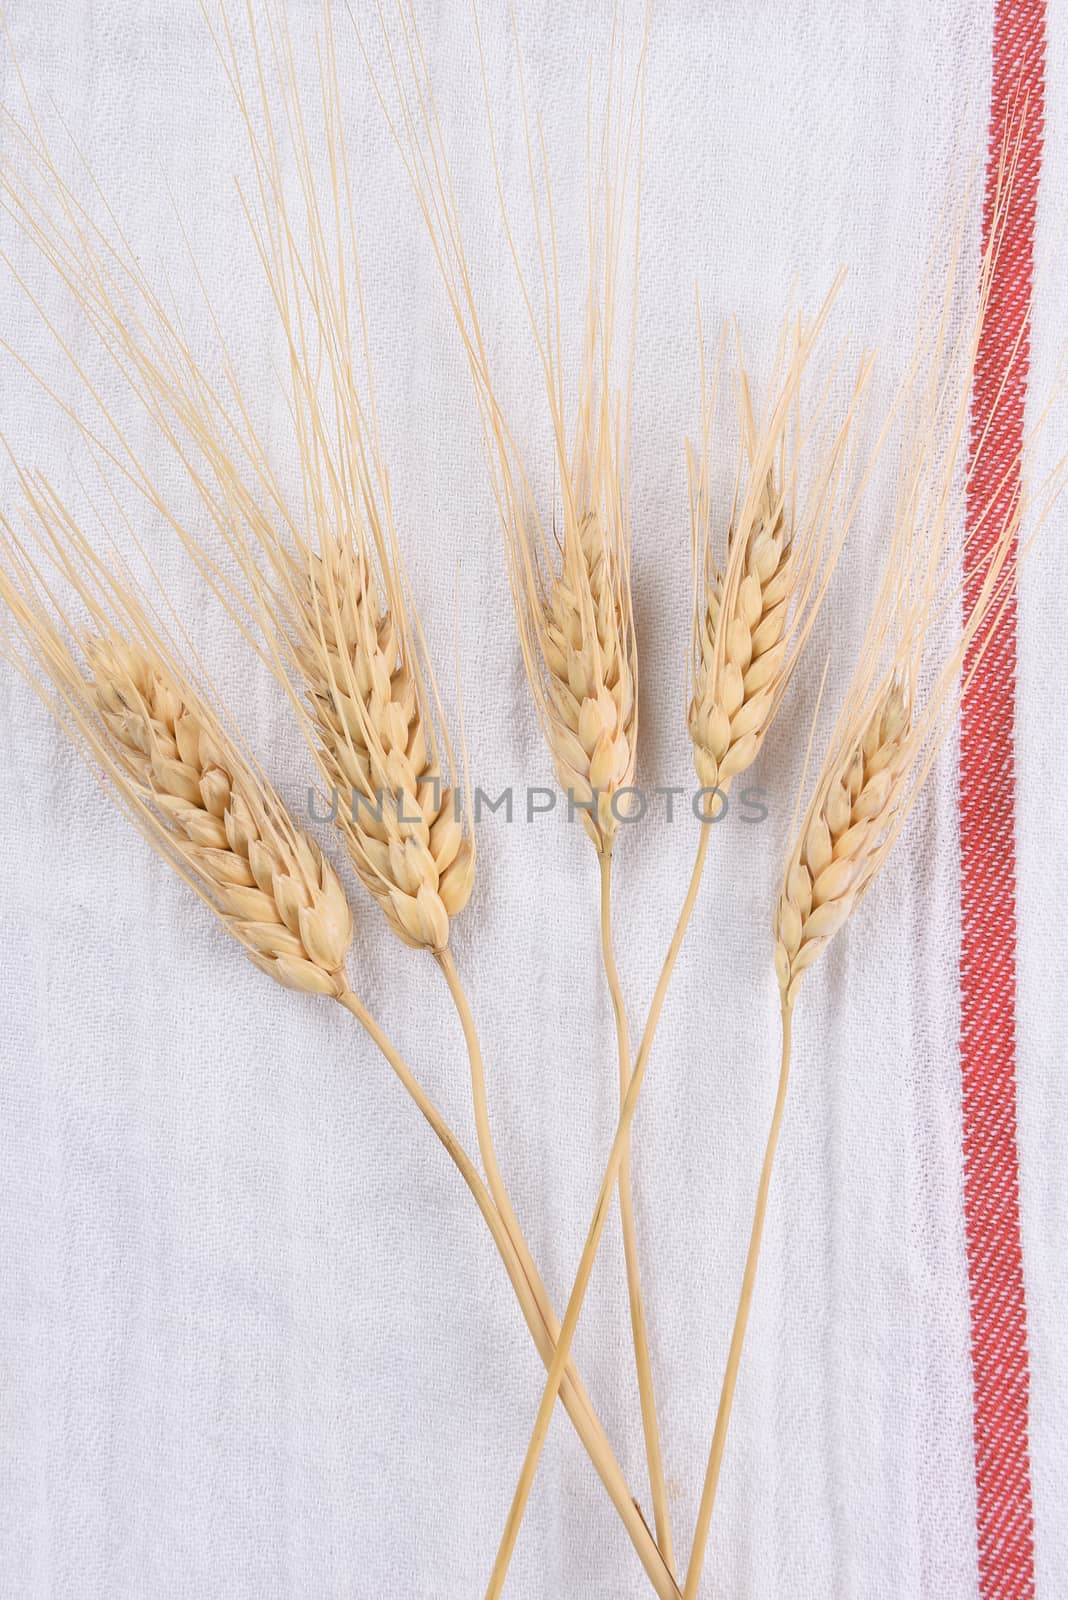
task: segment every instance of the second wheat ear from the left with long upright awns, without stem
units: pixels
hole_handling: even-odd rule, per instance
[[[256,560],[243,565],[261,597],[265,557],[272,592],[264,610],[304,690],[305,726],[320,771],[337,794],[352,864],[392,930],[409,946],[441,954],[451,918],[472,893],[475,850],[448,736],[441,742],[435,736],[440,701],[379,445],[329,8],[320,51],[326,192],[312,158],[285,10],[269,3],[259,24],[249,13],[248,26],[257,64],[253,96],[225,8],[216,43],[257,171],[261,205],[249,208],[249,224],[286,338],[312,530],[296,507],[278,504],[273,478],[273,506],[264,507],[262,496],[235,485],[224,461],[217,470],[253,538]],[[296,200],[286,194],[286,160],[297,173]],[[353,371],[357,331],[363,392]],[[259,440],[249,443],[262,483],[265,451]]]

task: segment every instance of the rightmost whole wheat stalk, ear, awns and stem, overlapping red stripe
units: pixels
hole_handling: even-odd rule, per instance
[[[1062,459],[1038,493],[1002,493],[1018,456],[999,461],[1002,475],[983,507],[985,554],[967,590],[951,544],[951,498],[966,448],[969,400],[993,274],[1004,248],[1015,152],[1002,152],[990,237],[982,261],[978,302],[964,333],[950,336],[961,234],[950,253],[946,286],[934,318],[921,323],[916,352],[895,410],[903,413],[897,504],[871,619],[860,658],[831,733],[811,800],[795,829],[774,917],[780,989],[782,1059],[779,1086],[756,1194],[742,1291],[731,1336],[711,1438],[684,1600],[695,1600],[726,1448],[748,1314],[756,1283],[772,1166],[790,1078],[791,1018],[804,974],[871,888],[908,819],[964,688],[978,670],[1018,578],[1018,530],[1038,501],[1044,520],[1065,480]],[[1023,338],[1026,318],[1020,322]],[[1004,354],[1001,403],[1017,347]],[[994,448],[990,419],[972,440],[966,482]],[[977,528],[966,538],[974,538]],[[956,621],[959,618],[959,622]],[[950,630],[948,643],[940,632]],[[807,763],[806,763],[807,765]]]

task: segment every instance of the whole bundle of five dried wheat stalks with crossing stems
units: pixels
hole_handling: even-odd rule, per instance
[[[82,755],[107,779],[130,819],[254,965],[288,989],[334,998],[360,1021],[472,1192],[547,1368],[488,1600],[497,1600],[504,1589],[558,1394],[654,1590],[660,1600],[695,1600],[755,1291],[801,979],[875,883],[953,725],[961,683],[978,669],[1017,582],[1018,530],[1028,496],[1006,498],[999,491],[983,510],[985,555],[964,589],[962,605],[950,515],[975,352],[1004,242],[1012,158],[1004,162],[1004,189],[993,206],[975,315],[962,336],[951,338],[954,250],[946,291],[921,328],[915,362],[875,446],[873,461],[891,422],[903,416],[897,506],[881,586],[811,797],[804,808],[798,800],[801,814],[799,821],[795,814],[774,912],[782,1006],[779,1088],[681,1590],[638,1270],[630,1128],[697,899],[711,805],[703,811],[691,883],[633,1069],[611,928],[612,853],[635,781],[638,742],[628,496],[635,315],[622,390],[614,371],[614,341],[628,206],[635,270],[638,256],[648,34],[630,106],[622,45],[617,59],[612,37],[612,80],[600,144],[588,138],[588,237],[584,238],[588,278],[582,355],[571,386],[563,362],[561,242],[547,146],[540,123],[532,136],[521,72],[540,299],[529,293],[520,267],[489,114],[504,227],[548,402],[560,485],[560,507],[550,514],[539,507],[524,467],[526,450],[513,437],[494,387],[494,365],[478,322],[456,190],[411,0],[397,5],[400,51],[393,50],[390,26],[379,10],[400,96],[393,133],[473,378],[521,659],[558,781],[596,848],[600,866],[601,957],[616,1018],[620,1109],[574,1286],[558,1323],[497,1165],[478,1030],[451,949],[452,918],[467,906],[473,886],[470,803],[457,776],[400,554],[379,442],[331,5],[325,0],[317,83],[326,184],[317,171],[285,0],[262,0],[259,21],[249,0],[245,45],[238,45],[225,0],[216,21],[209,11],[205,16],[248,134],[254,200],[245,202],[245,214],[283,338],[296,493],[285,486],[285,470],[253,422],[253,406],[229,352],[222,357],[225,382],[216,386],[125,240],[115,243],[101,232],[62,182],[35,120],[32,133],[26,133],[11,118],[10,131],[46,198],[42,200],[32,181],[6,166],[0,190],[8,211],[70,291],[88,328],[181,462],[198,509],[224,541],[227,570],[217,550],[205,549],[193,518],[176,510],[157,486],[106,408],[101,408],[106,426],[114,432],[107,446],[72,411],[69,416],[83,438],[101,446],[179,534],[230,618],[283,683],[320,778],[334,797],[331,810],[360,883],[389,928],[404,944],[430,952],[444,974],[467,1045],[484,1178],[349,986],[352,915],[323,851],[296,827],[229,731],[214,709],[217,698],[158,626],[130,578],[125,557],[117,554],[109,570],[107,558],[91,547],[48,482],[21,469],[16,477],[26,498],[30,541],[0,514],[0,600],[13,622],[8,653]],[[481,38],[478,43],[481,53]],[[365,59],[369,66],[366,51]],[[379,99],[385,106],[381,91]],[[811,638],[871,470],[873,461],[854,491],[854,440],[871,362],[860,360],[843,416],[833,427],[825,427],[830,384],[815,403],[807,392],[812,354],[838,283],[811,322],[796,317],[785,322],[771,398],[759,419],[748,376],[739,374],[739,467],[721,552],[713,549],[715,381],[711,387],[705,384],[702,355],[700,442],[687,451],[694,579],[687,730],[707,794],[724,792],[758,758]],[[536,312],[536,304],[544,312]],[[70,354],[62,338],[59,342]],[[77,371],[99,403],[83,370]],[[564,403],[569,390],[574,416]],[[974,442],[972,470],[988,448],[988,435]],[[1065,462],[1060,462],[1046,509],[1063,478]],[[78,619],[72,621],[75,611]],[[616,1186],[656,1531],[627,1485],[569,1354]]]

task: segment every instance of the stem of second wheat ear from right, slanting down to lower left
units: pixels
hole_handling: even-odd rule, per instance
[[[576,1326],[579,1323],[579,1315],[582,1312],[582,1302],[585,1299],[585,1291],[590,1285],[590,1274],[593,1272],[593,1261],[596,1258],[598,1245],[601,1243],[601,1234],[604,1230],[604,1219],[608,1216],[609,1198],[616,1181],[619,1178],[619,1168],[627,1154],[627,1138],[630,1133],[630,1125],[638,1107],[638,1094],[641,1093],[641,1083],[646,1074],[646,1066],[649,1064],[649,1054],[652,1051],[652,1040],[656,1037],[657,1022],[660,1019],[660,1010],[664,1006],[664,998],[667,995],[668,982],[671,979],[671,971],[678,952],[686,936],[686,928],[697,901],[697,890],[700,888],[700,877],[705,867],[705,856],[708,853],[708,822],[702,824],[700,835],[697,840],[697,856],[694,859],[694,870],[691,874],[689,888],[686,891],[686,899],[683,901],[683,909],[679,912],[675,933],[671,934],[671,944],[668,946],[668,954],[657,981],[656,994],[652,995],[652,1005],[649,1006],[649,1018],[646,1021],[644,1034],[641,1035],[641,1045],[638,1048],[638,1059],[635,1061],[635,1070],[632,1080],[627,1086],[627,1094],[624,1096],[624,1104],[619,1114],[619,1125],[616,1128],[616,1139],[612,1141],[612,1150],[608,1158],[608,1166],[601,1179],[601,1187],[598,1190],[596,1205],[593,1208],[593,1218],[590,1221],[590,1230],[587,1234],[585,1246],[582,1250],[582,1259],[579,1261],[579,1270],[576,1274],[574,1285],[571,1288],[571,1296],[568,1299],[568,1309],[564,1312],[563,1326],[560,1330],[560,1339],[556,1341],[556,1355],[548,1370],[548,1378],[545,1381],[545,1390],[542,1394],[542,1402],[537,1408],[537,1418],[534,1422],[534,1432],[531,1434],[531,1442],[526,1448],[526,1458],[523,1461],[523,1470],[520,1474],[520,1482],[515,1486],[515,1494],[512,1498],[512,1509],[508,1510],[508,1520],[505,1523],[504,1534],[500,1538],[500,1547],[497,1550],[497,1560],[494,1562],[494,1570],[489,1578],[489,1587],[486,1589],[486,1600],[499,1600],[500,1590],[504,1589],[504,1581],[508,1573],[508,1562],[512,1560],[512,1552],[515,1550],[515,1541],[520,1533],[520,1523],[523,1522],[523,1512],[526,1509],[526,1501],[534,1483],[534,1474],[537,1472],[537,1462],[545,1443],[545,1435],[548,1434],[548,1422],[553,1414],[553,1405],[556,1403],[556,1395],[560,1394],[560,1384],[564,1374],[564,1363],[571,1352],[571,1341],[574,1338]]]

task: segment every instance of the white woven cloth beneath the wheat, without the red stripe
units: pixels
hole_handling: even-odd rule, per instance
[[[189,277],[173,195],[221,325],[265,389],[280,350],[230,184],[245,163],[241,130],[193,0],[8,0],[5,10],[30,94],[42,106],[54,98],[158,282]],[[528,86],[561,213],[577,224],[587,61],[596,82],[611,8],[537,0],[521,10]],[[640,16],[630,10],[633,46]],[[371,16],[363,0],[360,11]],[[294,0],[291,14],[307,66],[317,6]],[[425,0],[420,16],[504,400],[532,459],[547,464],[468,11]],[[486,0],[483,24],[521,221],[507,8]],[[550,784],[459,341],[344,8],[337,26],[382,427],[414,592],[454,717],[462,560],[475,781],[489,792]],[[648,786],[691,782],[683,442],[697,426],[694,282],[708,326],[739,317],[759,386],[791,286],[814,307],[846,264],[833,328],[854,352],[876,347],[886,403],[910,350],[931,242],[982,157],[990,43],[983,0],[657,5],[632,474]],[[10,56],[0,61],[14,106]],[[1055,3],[1033,395],[1055,379],[1065,325],[1065,107],[1068,11]],[[977,253],[974,226],[972,266]],[[561,253],[569,317],[582,309],[584,272],[572,227]],[[45,293],[112,382],[54,285]],[[78,395],[6,272],[0,325],[62,395]],[[189,333],[209,355],[203,310]],[[0,426],[16,454],[62,488],[86,466],[74,430],[10,360],[0,371]],[[130,427],[195,515],[133,410]],[[1038,451],[1047,462],[1063,450],[1063,427],[1055,434]],[[285,450],[280,406],[277,440]],[[6,462],[3,504],[16,509]],[[846,682],[887,515],[879,482],[761,760],[767,824],[716,835],[636,1122],[638,1226],[683,1552],[774,1093],[769,915],[804,730],[828,648],[831,699]],[[189,613],[195,586],[174,541],[150,520],[144,534]],[[1042,1600],[1068,1592],[1066,586],[1057,515],[1026,570],[1020,643],[1020,1142]],[[192,629],[251,746],[299,802],[309,765],[278,693],[200,600]],[[107,806],[10,672],[0,675],[0,1595],[481,1594],[542,1370],[467,1192],[350,1019],[253,971]],[[946,750],[878,891],[803,995],[708,1597],[977,1594],[954,779]],[[635,1030],[692,845],[692,826],[679,821],[635,827],[619,848],[619,958]],[[616,1120],[595,859],[560,814],[529,827],[491,818],[480,850],[457,960],[483,1029],[500,1163],[563,1307]],[[473,1147],[443,984],[389,938],[355,886],[353,901],[355,984]],[[576,1352],[648,1507],[616,1218]],[[558,1413],[508,1594],[643,1592]]]

